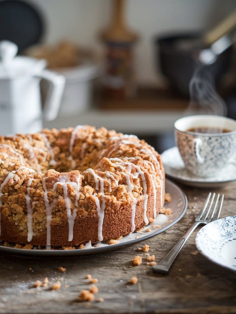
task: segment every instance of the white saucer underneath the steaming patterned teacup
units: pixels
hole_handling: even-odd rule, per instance
[[[185,168],[176,146],[165,150],[161,154],[161,160],[166,176],[192,187],[219,187],[236,181],[236,163],[233,160],[216,176],[206,178],[196,176]]]

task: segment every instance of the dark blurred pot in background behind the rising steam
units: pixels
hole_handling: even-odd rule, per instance
[[[188,96],[189,81],[197,67],[194,59],[196,48],[191,43],[200,39],[199,33],[176,33],[155,37],[156,64],[160,64],[162,74],[168,79],[171,87],[181,94]],[[189,41],[187,48],[180,49],[178,42]],[[202,47],[200,47],[202,48]],[[205,66],[205,70],[214,79],[216,85],[219,83],[230,65],[232,46],[218,56],[215,62]]]

